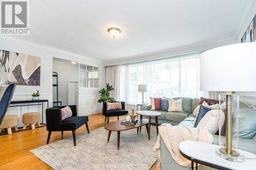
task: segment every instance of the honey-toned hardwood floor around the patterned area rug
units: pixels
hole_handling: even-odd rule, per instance
[[[124,119],[123,117],[120,117]],[[89,129],[94,130],[105,125],[105,117],[101,114],[89,115]],[[111,117],[110,122],[117,120],[117,117]],[[83,125],[76,130],[76,134],[87,133],[86,126]],[[46,163],[42,162],[31,152],[32,149],[46,144],[48,131],[45,127],[39,127],[35,130],[25,130],[14,132],[11,135],[0,136],[0,169],[52,169]],[[72,132],[52,132],[50,143],[72,136]],[[151,170],[157,170],[156,163]]]

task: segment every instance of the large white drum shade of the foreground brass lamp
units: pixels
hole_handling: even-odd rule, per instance
[[[256,42],[208,50],[200,57],[201,91],[256,91]]]

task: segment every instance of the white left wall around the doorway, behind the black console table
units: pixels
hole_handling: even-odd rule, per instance
[[[40,98],[49,100],[49,107],[52,106],[52,71],[53,71],[53,57],[76,61],[83,64],[100,66],[101,69],[101,86],[105,85],[105,68],[102,63],[86,56],[69,53],[58,50],[49,46],[20,40],[12,37],[0,36],[0,48],[11,52],[23,53],[41,58],[41,80],[40,80]],[[13,100],[31,99],[35,86],[17,86],[14,92]],[[36,87],[37,88],[37,87]],[[44,109],[45,110],[45,109]],[[19,116],[19,123],[22,123],[22,114],[30,111],[40,111],[38,106],[30,107],[13,107],[8,109],[7,114],[16,114]],[[45,115],[44,115],[45,119]],[[44,120],[45,122],[45,120]]]

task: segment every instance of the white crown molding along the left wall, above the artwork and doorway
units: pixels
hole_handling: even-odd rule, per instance
[[[22,38],[3,36],[3,35],[0,35],[0,37],[6,38],[6,39],[9,39],[9,40],[14,40],[14,41],[26,43],[26,44],[30,44],[30,45],[35,45],[37,47],[45,48],[47,50],[55,51],[55,52],[58,52],[58,53],[64,53],[64,54],[76,56],[76,57],[79,57],[79,58],[82,58],[82,59],[87,59],[87,60],[103,63],[103,61],[101,61],[101,60],[97,60],[97,59],[94,59],[94,58],[91,58],[91,57],[87,57],[87,56],[83,56],[83,55],[80,55],[80,54],[68,52],[68,51],[65,51],[65,50],[61,50],[59,48],[54,48],[54,47],[51,47],[51,46],[48,46],[48,45],[44,45],[44,44],[40,44],[40,43],[37,43],[37,42],[24,40]]]

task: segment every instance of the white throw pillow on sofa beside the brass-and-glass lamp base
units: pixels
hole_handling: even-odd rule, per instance
[[[199,124],[197,125],[197,128],[207,130],[211,134],[216,134],[216,132],[219,129],[219,122],[222,127],[224,124],[224,120],[225,115],[222,110],[212,109],[208,111],[200,120]]]

